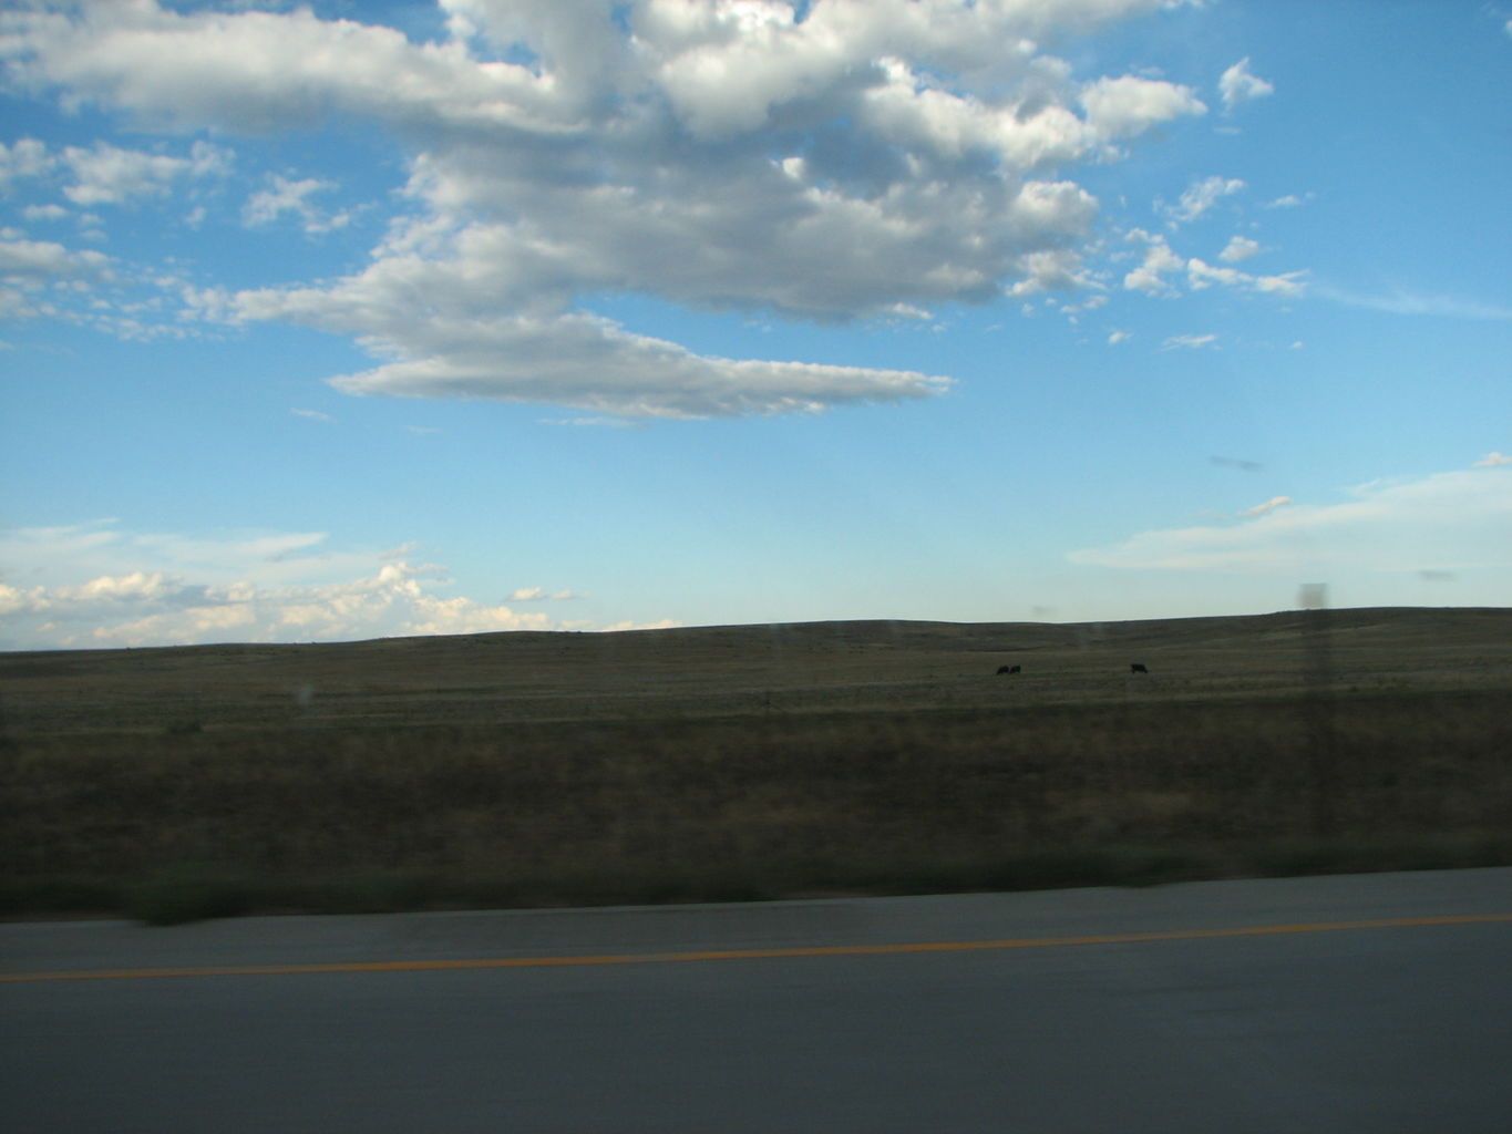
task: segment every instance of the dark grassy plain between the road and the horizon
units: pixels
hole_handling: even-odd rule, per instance
[[[0,909],[1512,862],[1512,611],[1341,611],[1320,644],[1278,614],[0,655]]]

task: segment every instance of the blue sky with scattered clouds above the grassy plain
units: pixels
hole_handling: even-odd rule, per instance
[[[1512,603],[1512,0],[0,8],[0,649]]]

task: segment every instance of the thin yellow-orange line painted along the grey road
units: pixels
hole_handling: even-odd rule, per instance
[[[1084,937],[1024,937],[1010,940],[925,940],[903,945],[809,945],[774,950],[705,950],[689,953],[609,953],[569,957],[476,957],[469,960],[372,960],[325,965],[215,965],[180,969],[80,969],[74,972],[8,972],[0,984],[57,980],[157,980],[163,977],[284,977],[314,972],[437,972],[446,969],[537,969],[575,965],[667,965],[692,960],[765,960],[774,957],[875,957],[901,953],[968,953],[980,950],[1042,950],[1063,945],[1131,945],[1151,940],[1202,937],[1263,937],[1281,933],[1334,933],[1337,930],[1390,930],[1420,925],[1477,925],[1512,922],[1512,913],[1464,913],[1441,918],[1374,918],[1321,921],[1299,925],[1238,925],[1216,930],[1157,930],[1102,933]]]

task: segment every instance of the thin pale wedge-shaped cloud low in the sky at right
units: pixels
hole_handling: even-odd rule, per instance
[[[1374,482],[1335,503],[1278,500],[1243,523],[1140,532],[1072,562],[1123,570],[1297,573],[1464,572],[1512,567],[1512,472],[1482,469]]]

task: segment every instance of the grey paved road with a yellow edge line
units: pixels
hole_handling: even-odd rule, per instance
[[[0,1013],[18,1134],[1506,1134],[1512,869],[0,925]]]

